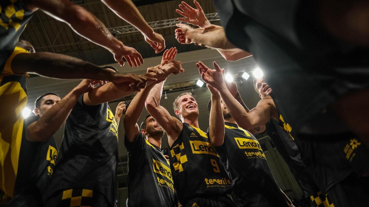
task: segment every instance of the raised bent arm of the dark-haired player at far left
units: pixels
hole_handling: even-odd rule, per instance
[[[27,127],[25,132],[26,139],[28,141],[47,141],[68,118],[78,98],[83,93],[91,90],[95,83],[93,80],[82,80],[61,101],[52,106],[36,122],[31,123]]]

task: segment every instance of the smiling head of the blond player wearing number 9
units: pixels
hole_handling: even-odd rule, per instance
[[[199,116],[199,108],[197,107],[196,100],[190,95],[183,95],[178,98],[177,109],[174,111],[177,116],[190,117]]]

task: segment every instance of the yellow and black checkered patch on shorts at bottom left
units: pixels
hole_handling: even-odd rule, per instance
[[[93,190],[69,189],[63,191],[62,206],[69,207],[91,207]]]

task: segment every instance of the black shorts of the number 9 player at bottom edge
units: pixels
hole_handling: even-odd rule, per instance
[[[212,197],[212,198],[193,198],[186,203],[182,203],[183,207],[236,207],[236,204],[228,197]]]

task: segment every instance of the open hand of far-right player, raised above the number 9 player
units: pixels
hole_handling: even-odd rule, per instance
[[[220,89],[221,87],[226,87],[223,74],[224,69],[220,69],[217,63],[213,62],[215,70],[208,68],[204,63],[201,61],[196,63],[197,69],[199,69],[201,79],[205,81],[205,83],[209,84],[210,86]]]

